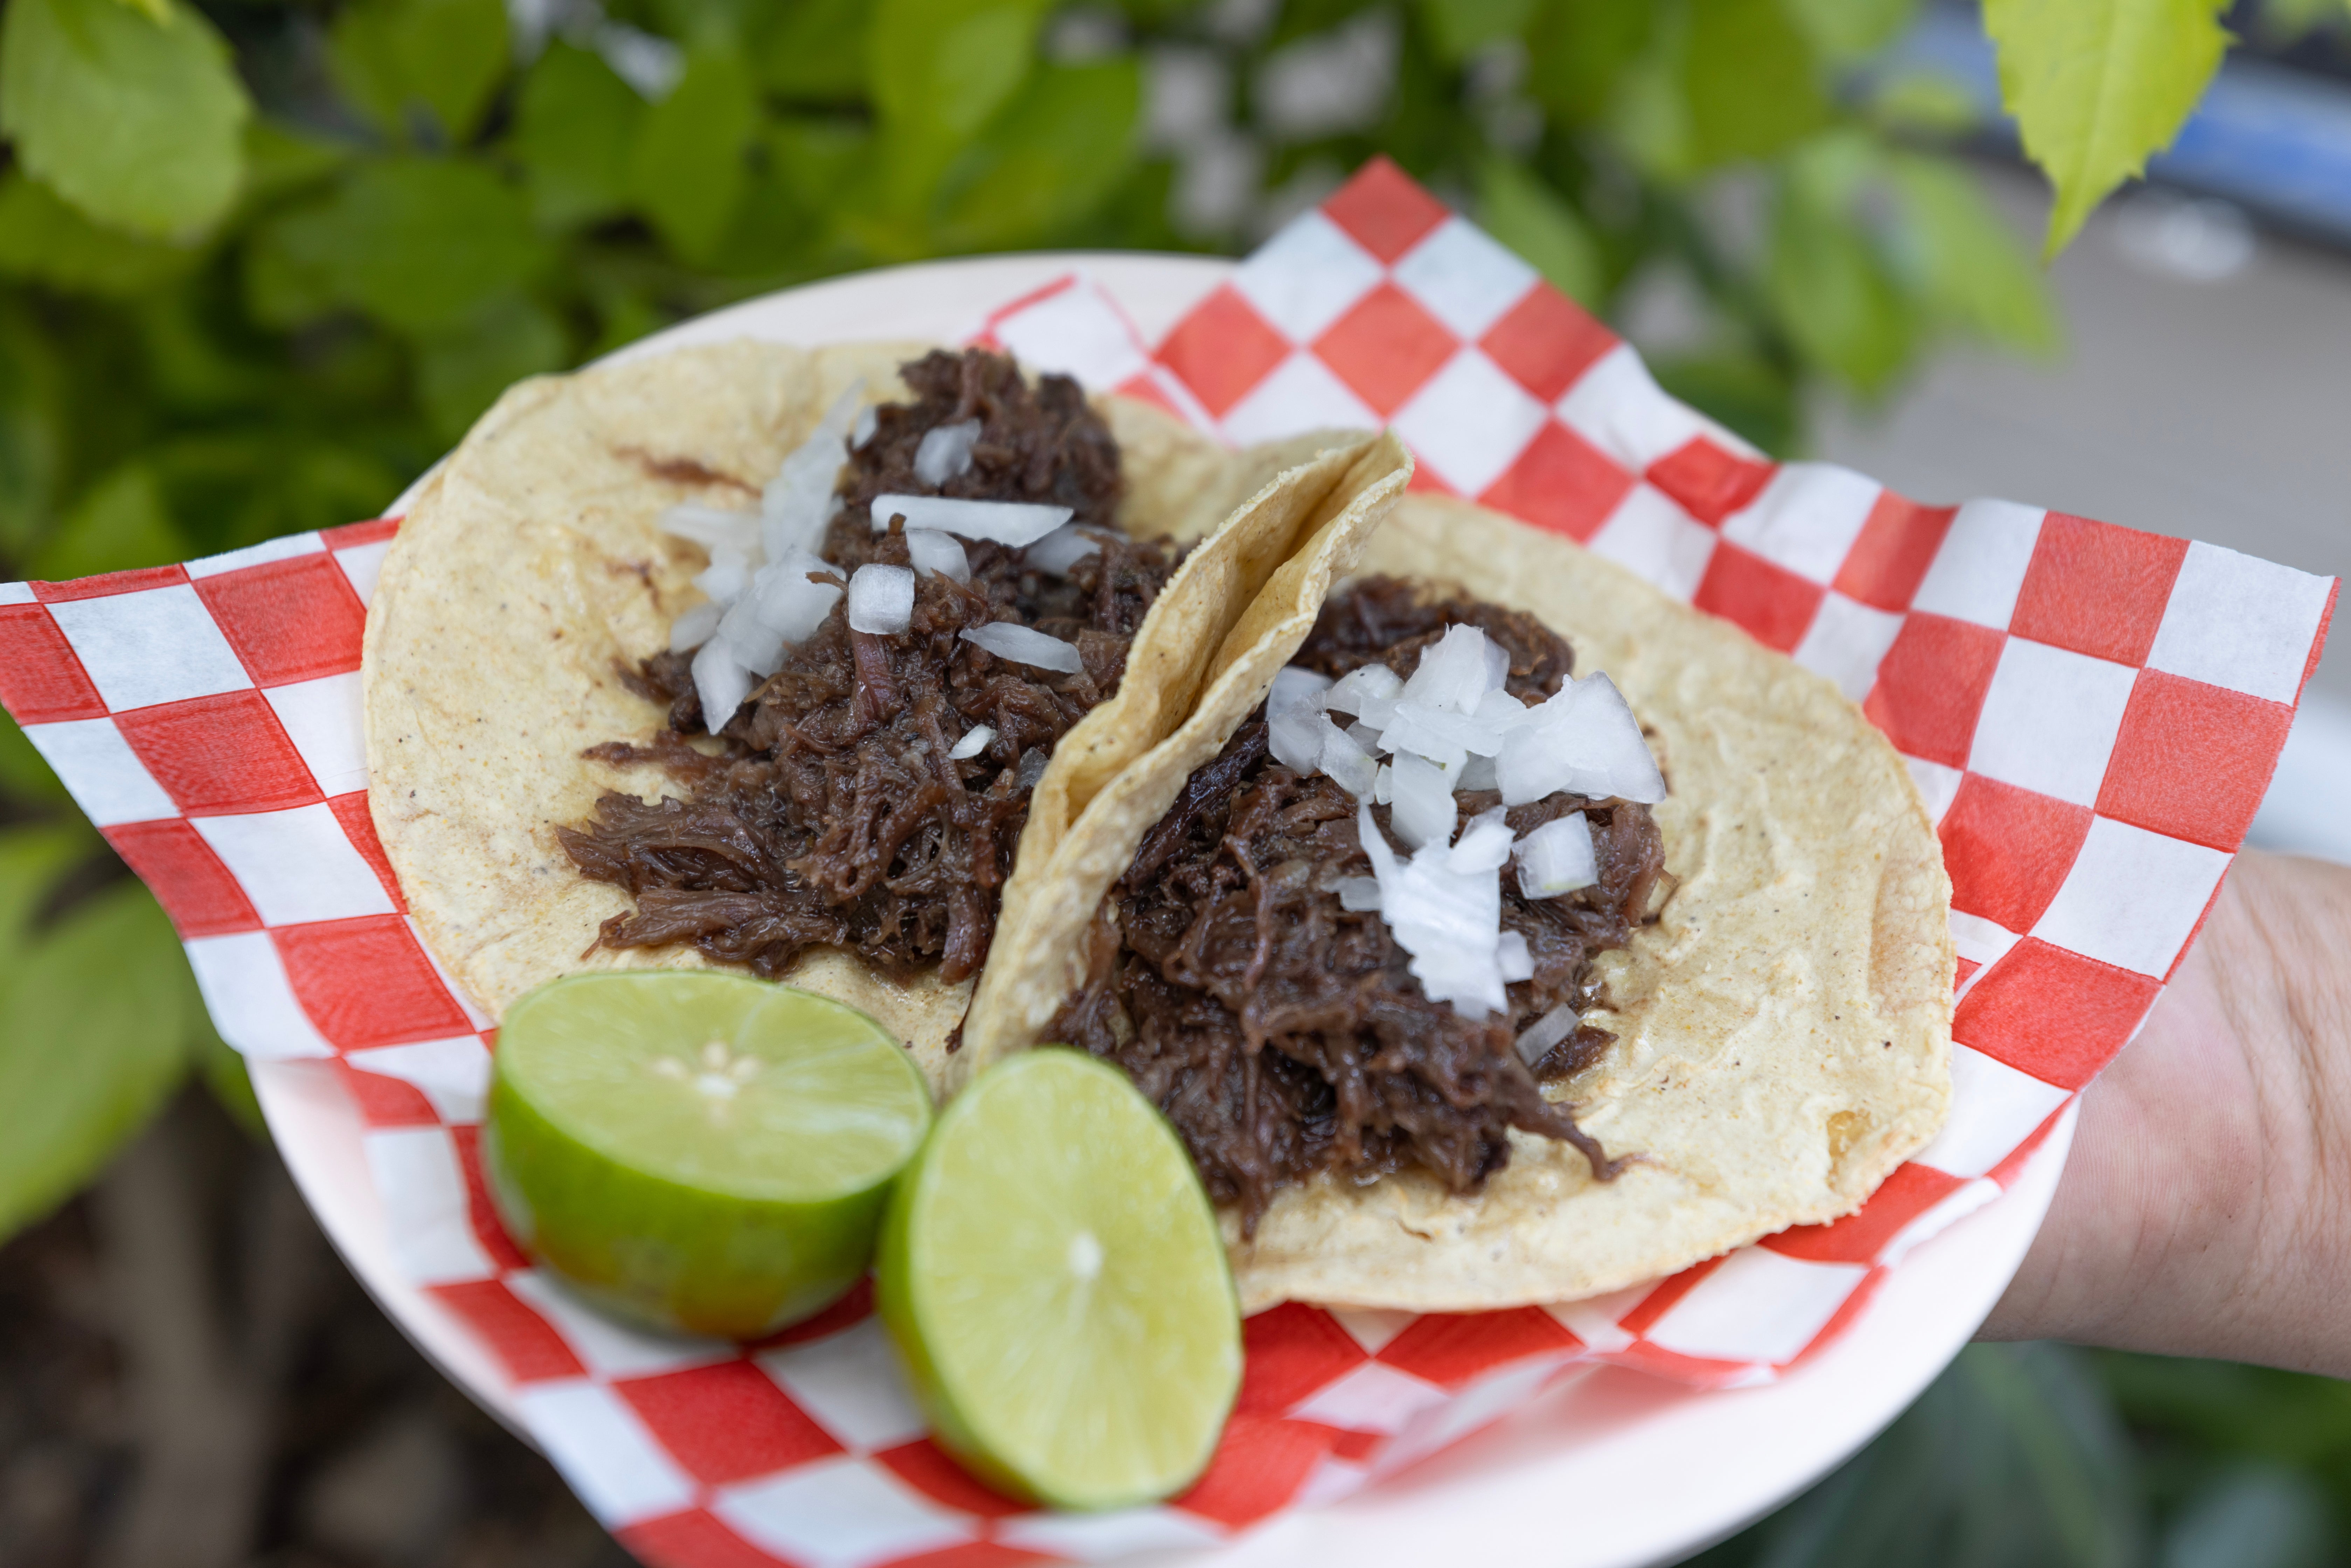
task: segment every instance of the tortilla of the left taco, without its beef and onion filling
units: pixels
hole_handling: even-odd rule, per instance
[[[623,686],[616,663],[665,646],[670,621],[701,599],[691,576],[705,555],[658,520],[682,501],[755,505],[851,383],[870,402],[905,397],[898,364],[924,350],[736,341],[524,381],[409,510],[367,616],[369,811],[426,945],[487,1013],[564,973],[703,964],[691,947],[590,952],[630,898],[581,877],[555,839],[607,790],[670,792],[656,766],[581,757],[651,736],[661,708]],[[1232,623],[1328,522],[1333,487],[1368,447],[1357,437],[1293,463],[1244,501],[1255,465],[1145,404],[1103,411],[1128,475],[1121,527],[1213,538],[1152,604],[1119,691],[1053,750],[1037,785],[1046,816],[1084,809],[1178,726]],[[811,952],[790,980],[879,1018],[943,1084],[969,980],[900,985],[837,950]]]

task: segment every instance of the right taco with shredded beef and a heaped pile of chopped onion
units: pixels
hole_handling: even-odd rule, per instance
[[[957,1070],[1124,1067],[1244,1309],[1573,1300],[1857,1208],[1949,1103],[1949,882],[1895,750],[1509,517],[1406,496],[1361,569],[1270,588],[1079,816]]]

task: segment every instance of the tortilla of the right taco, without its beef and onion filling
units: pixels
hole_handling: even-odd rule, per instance
[[[1575,644],[1578,672],[1617,682],[1672,783],[1655,816],[1679,886],[1629,950],[1601,954],[1608,1009],[1589,1018],[1617,1041],[1556,1093],[1610,1154],[1634,1157],[1617,1180],[1516,1131],[1509,1166],[1474,1197],[1420,1171],[1324,1175],[1274,1197],[1253,1241],[1223,1215],[1244,1309],[1575,1300],[1855,1211],[1935,1135],[1951,1095],[1951,886],[1895,750],[1827,679],[1509,517],[1406,496],[1361,567],[1533,611]],[[1213,686],[1079,818],[1060,851],[1091,867],[1063,884],[1074,929],[1262,701],[1328,578],[1286,571],[1267,590],[1279,604],[1251,616],[1279,632],[1246,679]],[[987,973],[966,1037],[990,1056],[1034,1044],[1074,983],[1072,954],[1023,940]],[[997,994],[1016,999],[1009,1018]]]

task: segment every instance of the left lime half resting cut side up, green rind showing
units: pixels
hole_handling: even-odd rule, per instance
[[[505,1011],[482,1166],[515,1239],[590,1300],[755,1340],[858,1281],[929,1124],[922,1072],[865,1013],[639,969]]]

